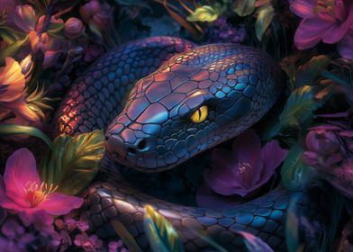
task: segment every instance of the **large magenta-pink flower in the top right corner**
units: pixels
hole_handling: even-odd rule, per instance
[[[353,2],[351,0],[293,0],[291,11],[303,17],[295,31],[298,49],[308,49],[321,40],[339,43],[339,53],[353,58]]]

